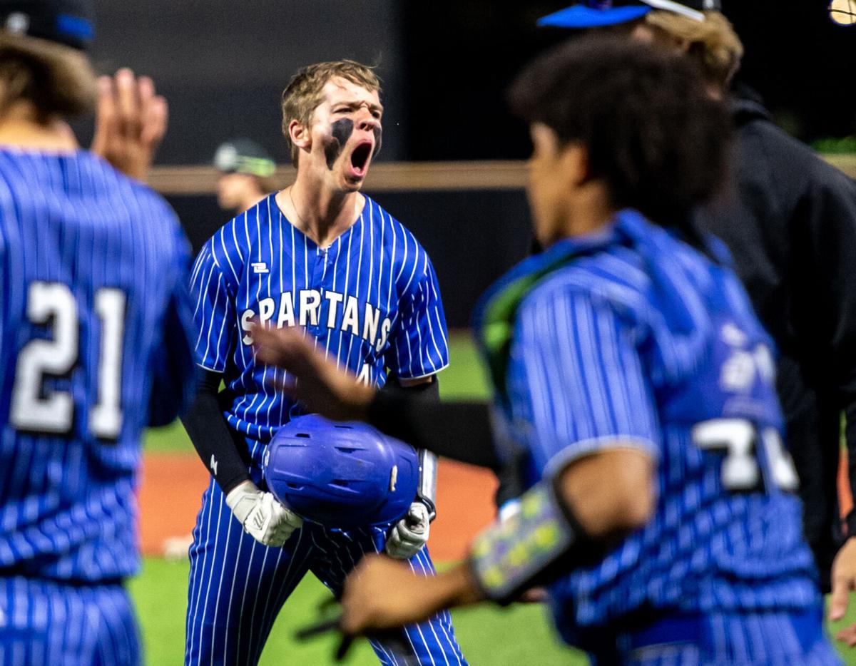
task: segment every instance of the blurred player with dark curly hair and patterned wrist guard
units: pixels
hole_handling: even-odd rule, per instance
[[[529,488],[437,579],[360,564],[343,631],[548,583],[562,638],[593,663],[839,663],[769,338],[723,246],[692,223],[724,180],[724,107],[687,62],[603,38],[539,58],[510,98],[532,129],[545,249],[490,289],[476,322],[497,431],[526,453]],[[371,389],[298,333],[254,335],[308,407],[383,424]],[[408,402],[398,410],[419,411]]]

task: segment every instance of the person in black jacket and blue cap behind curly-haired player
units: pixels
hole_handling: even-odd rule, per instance
[[[776,127],[752,90],[732,89],[743,45],[719,9],[718,0],[578,3],[539,23],[615,25],[632,39],[686,57],[710,95],[728,101],[737,134],[736,187],[728,199],[702,208],[699,223],[728,245],[776,342],[776,387],[800,475],[805,537],[824,592],[831,579],[829,615],[838,620],[856,584],[856,511],[842,534],[836,484],[843,411],[856,497],[856,185]],[[856,645],[856,626],[838,638]]]

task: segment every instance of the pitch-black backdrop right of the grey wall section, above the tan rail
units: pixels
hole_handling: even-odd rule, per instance
[[[535,27],[565,0],[402,3],[415,159],[523,158],[508,82],[530,57],[572,34]],[[723,0],[746,45],[740,80],[803,140],[856,133],[856,27],[829,20],[829,0]],[[442,128],[442,131],[437,131]]]

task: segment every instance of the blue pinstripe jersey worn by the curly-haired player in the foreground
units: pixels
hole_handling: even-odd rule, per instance
[[[528,259],[487,300],[556,262],[514,321],[506,434],[532,482],[616,443],[643,449],[658,497],[644,529],[552,586],[566,638],[627,629],[634,612],[817,604],[770,339],[732,271],[624,211]]]

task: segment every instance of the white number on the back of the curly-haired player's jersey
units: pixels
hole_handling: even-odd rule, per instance
[[[712,419],[693,427],[693,443],[699,449],[725,451],[722,485],[730,491],[746,492],[763,486],[756,447],[764,447],[770,478],[782,491],[796,491],[799,485],[794,461],[782,446],[775,428],[758,433],[745,419]]]

